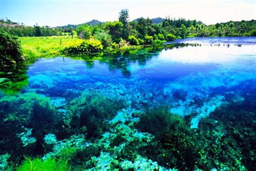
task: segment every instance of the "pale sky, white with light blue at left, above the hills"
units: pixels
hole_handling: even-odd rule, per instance
[[[129,10],[130,20],[170,16],[197,19],[208,25],[256,18],[255,0],[0,0],[0,18],[26,25],[114,21],[122,9]]]

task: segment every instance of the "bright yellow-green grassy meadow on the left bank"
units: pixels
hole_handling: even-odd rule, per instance
[[[22,55],[29,61],[41,57],[56,57],[62,54],[65,47],[82,42],[81,39],[72,39],[68,36],[20,37],[19,40],[21,40]],[[60,40],[62,44],[60,44]]]

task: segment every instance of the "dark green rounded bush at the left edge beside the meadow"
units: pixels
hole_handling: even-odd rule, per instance
[[[17,37],[0,29],[0,64],[11,65],[22,60],[21,45]]]

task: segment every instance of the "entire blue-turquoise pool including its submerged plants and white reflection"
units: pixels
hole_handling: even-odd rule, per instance
[[[20,163],[24,155],[58,158],[60,148],[86,151],[97,144],[97,153],[83,153],[84,161],[73,159],[70,165],[142,170],[255,168],[256,38],[190,38],[174,43],[190,45],[41,58],[14,72],[2,72],[2,158],[6,163]],[[161,118],[156,114],[163,113],[159,108],[178,119]],[[184,126],[179,128],[180,123]],[[6,134],[7,127],[15,133]],[[250,133],[245,135],[245,128]],[[122,130],[122,139],[116,142],[113,137]],[[183,135],[195,136],[194,141]],[[217,143],[217,147],[197,143]],[[123,146],[134,148],[129,151]],[[187,153],[195,159],[187,158]],[[83,162],[87,164],[82,167]]]

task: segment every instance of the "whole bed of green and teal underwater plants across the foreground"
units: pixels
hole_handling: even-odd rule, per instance
[[[221,105],[197,129],[169,107],[125,110],[123,100],[96,92],[72,100],[66,116],[41,95],[13,95],[0,102],[1,158],[18,170],[254,170],[253,93]]]

